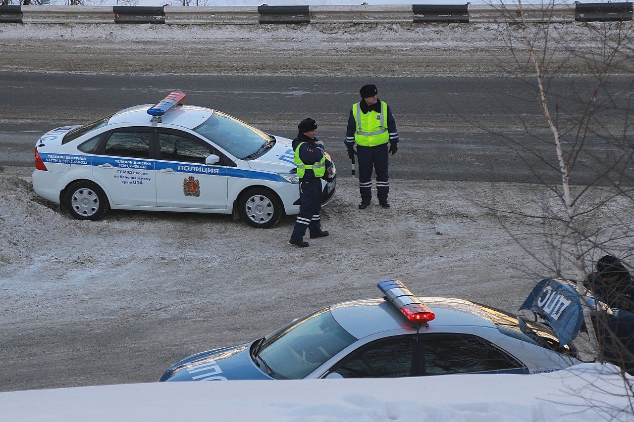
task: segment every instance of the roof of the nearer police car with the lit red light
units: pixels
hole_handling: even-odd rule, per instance
[[[495,328],[487,312],[469,300],[444,297],[418,297],[436,318],[430,326],[482,326]],[[356,338],[406,329],[416,329],[401,311],[386,298],[353,300],[330,307],[330,313],[342,328]]]

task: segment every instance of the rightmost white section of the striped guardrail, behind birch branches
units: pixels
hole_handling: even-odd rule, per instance
[[[548,8],[541,4],[522,6],[526,22],[574,22],[574,4],[557,4]],[[501,6],[469,4],[469,22],[512,23],[521,21],[517,4]]]

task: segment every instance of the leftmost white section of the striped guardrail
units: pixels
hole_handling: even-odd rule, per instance
[[[22,6],[24,23],[113,23],[112,6]]]

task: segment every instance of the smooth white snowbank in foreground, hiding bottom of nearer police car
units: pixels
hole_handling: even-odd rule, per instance
[[[550,374],[109,385],[0,393],[12,421],[632,420],[611,365]],[[247,419],[249,418],[249,419]]]

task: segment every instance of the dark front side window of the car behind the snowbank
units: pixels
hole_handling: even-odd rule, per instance
[[[413,338],[375,342],[353,352],[332,371],[344,378],[394,378],[412,376]]]

